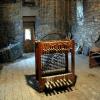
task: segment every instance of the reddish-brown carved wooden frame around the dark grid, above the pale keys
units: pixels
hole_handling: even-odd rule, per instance
[[[49,53],[65,53],[66,72],[59,75],[51,75],[43,77],[41,55]],[[68,72],[68,53],[71,53],[71,70]],[[35,42],[35,65],[36,80],[38,81],[39,91],[45,89],[45,83],[48,81],[57,81],[59,79],[70,79],[72,85],[76,82],[75,76],[75,42],[74,40],[52,40],[52,41],[36,41]]]

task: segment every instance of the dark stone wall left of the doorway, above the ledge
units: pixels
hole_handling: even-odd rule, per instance
[[[0,49],[23,42],[21,1],[0,4]]]

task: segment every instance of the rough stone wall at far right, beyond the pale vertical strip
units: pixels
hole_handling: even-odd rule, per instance
[[[87,0],[84,3],[85,42],[91,47],[100,47],[100,0]]]

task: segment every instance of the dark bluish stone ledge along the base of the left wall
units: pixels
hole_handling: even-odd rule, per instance
[[[22,56],[21,43],[11,44],[0,50],[0,63],[11,62]]]

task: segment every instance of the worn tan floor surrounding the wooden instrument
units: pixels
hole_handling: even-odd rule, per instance
[[[25,76],[32,74],[35,74],[34,54],[0,65],[0,100],[100,100],[100,67],[89,69],[88,57],[76,56],[78,77],[70,92],[38,93],[27,84]]]

